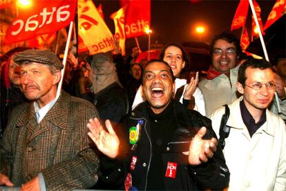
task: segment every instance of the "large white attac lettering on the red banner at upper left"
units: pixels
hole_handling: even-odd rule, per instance
[[[61,21],[66,21],[68,19],[68,17],[70,17],[70,11],[68,10],[63,10],[65,8],[69,8],[70,6],[61,6],[58,9],[56,7],[52,8],[52,12],[48,12],[47,8],[44,8],[42,10],[42,12],[39,13],[39,15],[41,15],[41,17],[43,18],[43,21],[41,23],[41,25],[39,25],[39,19],[36,19],[39,15],[32,15],[31,17],[29,17],[26,21],[23,21],[22,19],[19,19],[15,22],[12,23],[12,26],[17,26],[19,24],[19,27],[15,27],[14,30],[12,30],[11,35],[18,35],[21,30],[23,30],[23,26],[25,24],[25,31],[34,31],[37,28],[41,28],[42,26],[44,26],[44,24],[50,24],[53,21],[53,15],[54,12],[57,10],[57,17],[56,20],[57,22],[61,22]],[[48,18],[48,16],[50,16]],[[47,20],[48,18],[48,20]]]

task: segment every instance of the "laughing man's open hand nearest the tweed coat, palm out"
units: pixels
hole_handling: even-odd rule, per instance
[[[100,152],[110,158],[118,155],[120,140],[115,134],[110,120],[105,122],[108,131],[105,131],[98,118],[90,119],[86,127],[90,130],[88,136],[93,140]]]

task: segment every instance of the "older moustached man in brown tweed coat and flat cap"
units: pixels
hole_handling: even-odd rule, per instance
[[[46,50],[18,53],[21,87],[30,102],[12,111],[0,143],[0,185],[22,190],[72,190],[97,182],[98,158],[86,123],[98,117],[90,102],[61,91],[63,64]]]

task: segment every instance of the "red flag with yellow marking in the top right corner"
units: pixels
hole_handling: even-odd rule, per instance
[[[264,26],[264,30],[266,30],[271,24],[274,24],[275,21],[277,21],[282,15],[285,14],[285,6],[286,1],[285,0],[277,0],[274,4],[271,12],[268,15],[267,21]]]

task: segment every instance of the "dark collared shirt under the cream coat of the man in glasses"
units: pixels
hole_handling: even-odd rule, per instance
[[[242,120],[249,131],[250,137],[252,137],[257,129],[259,129],[259,127],[266,122],[266,109],[263,110],[260,120],[256,123],[254,118],[251,116],[251,113],[249,113],[247,107],[245,106],[245,102],[243,100],[240,101],[240,113]]]

